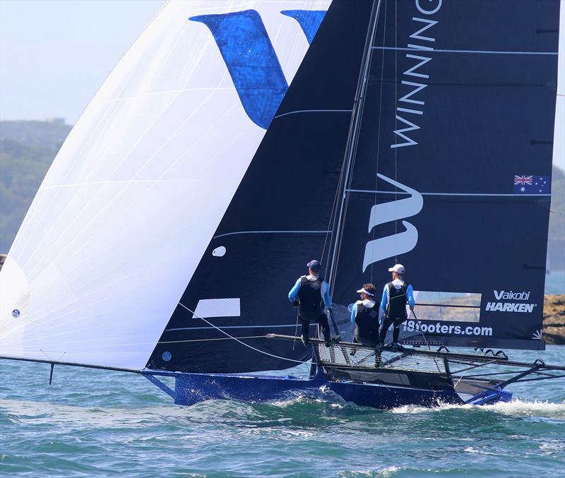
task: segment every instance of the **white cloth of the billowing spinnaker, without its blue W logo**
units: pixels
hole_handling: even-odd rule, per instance
[[[25,216],[0,273],[1,355],[145,366],[265,134],[210,30],[189,17],[253,8],[290,83],[308,42],[280,11],[330,3],[162,8],[85,109]]]

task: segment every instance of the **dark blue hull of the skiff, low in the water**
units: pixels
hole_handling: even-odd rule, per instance
[[[167,391],[167,390],[165,390]],[[242,400],[264,402],[286,400],[298,395],[320,397],[333,392],[347,402],[390,409],[403,405],[435,407],[441,403],[463,405],[464,401],[455,390],[426,390],[373,383],[345,383],[328,381],[323,374],[311,379],[292,376],[255,376],[224,374],[175,374],[174,391],[169,390],[177,405],[194,405],[203,400]],[[331,399],[331,395],[327,395]],[[335,399],[335,395],[333,397]],[[481,404],[508,401],[511,393],[500,390],[489,395]]]

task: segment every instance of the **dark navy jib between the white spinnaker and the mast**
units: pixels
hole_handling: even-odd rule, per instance
[[[310,357],[265,335],[295,333],[287,292],[329,249],[372,8],[331,4],[148,368],[274,370]]]

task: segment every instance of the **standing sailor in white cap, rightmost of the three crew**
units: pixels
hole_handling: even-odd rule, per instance
[[[393,273],[392,282],[388,282],[383,289],[383,297],[381,299],[381,309],[383,311],[383,325],[379,335],[379,348],[384,344],[384,339],[388,328],[393,325],[393,352],[397,352],[398,335],[400,335],[400,324],[407,318],[406,304],[410,306],[410,310],[414,310],[414,291],[412,286],[405,282],[403,275],[406,270],[402,264],[393,265],[388,272]]]

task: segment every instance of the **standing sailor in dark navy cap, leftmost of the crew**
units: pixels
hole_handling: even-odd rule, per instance
[[[299,277],[288,293],[292,305],[298,307],[298,319],[302,323],[300,340],[307,347],[310,323],[319,323],[326,347],[331,347],[339,342],[339,335],[331,337],[328,316],[323,311],[323,305],[326,304],[328,312],[331,312],[330,286],[320,277],[321,265],[318,261],[310,261],[307,266],[308,275]]]

